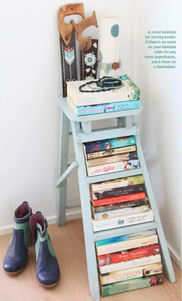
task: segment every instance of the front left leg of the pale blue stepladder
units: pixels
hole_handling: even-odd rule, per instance
[[[79,182],[81,210],[82,210],[82,218],[83,218],[89,289],[93,300],[99,301],[100,300],[99,281],[98,281],[98,272],[97,272],[95,243],[93,240],[93,227],[92,227],[89,189],[88,189],[88,185],[86,184],[87,174],[86,174],[86,167],[85,167],[85,158],[84,158],[82,144],[77,143],[76,122],[72,122],[71,125],[72,125],[75,156],[76,156],[76,160],[78,161],[77,171],[78,171],[78,182]]]

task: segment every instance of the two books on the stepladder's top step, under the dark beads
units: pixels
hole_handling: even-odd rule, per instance
[[[139,109],[139,88],[126,74],[119,78],[121,88],[100,93],[79,91],[79,87],[88,80],[67,82],[67,103],[78,116]],[[93,87],[86,85],[82,89],[92,91]]]

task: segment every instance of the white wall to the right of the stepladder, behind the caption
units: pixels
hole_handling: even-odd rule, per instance
[[[138,117],[141,142],[173,258],[181,264],[181,119],[182,61],[180,3],[137,1],[139,22],[133,28],[133,79],[141,89],[143,112]],[[177,69],[153,69],[144,59],[151,54],[145,44],[148,30],[177,31]]]

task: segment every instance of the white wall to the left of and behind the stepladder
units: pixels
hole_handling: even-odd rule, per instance
[[[25,200],[51,222],[57,215],[60,109],[56,99],[61,93],[57,11],[69,2],[0,2],[0,234],[10,230],[14,210]],[[122,72],[131,73],[132,1],[104,3],[84,1],[85,15],[95,9],[98,21],[116,15],[121,25],[128,22],[124,30],[121,27],[120,51]],[[98,38],[99,29],[92,26],[83,36],[90,34]],[[69,159],[74,159],[72,142]],[[79,202],[76,171],[68,185],[67,203]]]

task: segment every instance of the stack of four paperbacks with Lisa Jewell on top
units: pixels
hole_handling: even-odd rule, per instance
[[[89,177],[139,167],[135,136],[86,142],[83,150]]]

